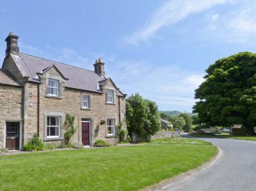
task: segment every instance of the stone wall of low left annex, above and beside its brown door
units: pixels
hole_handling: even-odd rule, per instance
[[[22,121],[22,87],[0,84],[0,148],[5,146],[6,121]]]

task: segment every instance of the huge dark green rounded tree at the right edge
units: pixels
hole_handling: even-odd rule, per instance
[[[205,126],[256,126],[256,54],[242,52],[222,58],[206,70],[195,91],[193,112]]]

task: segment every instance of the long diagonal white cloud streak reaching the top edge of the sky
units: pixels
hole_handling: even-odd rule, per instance
[[[148,41],[155,37],[159,29],[175,24],[186,18],[188,15],[195,14],[229,0],[170,0],[160,6],[154,14],[150,16],[144,27],[134,32],[126,38],[127,44],[138,44],[141,41]]]

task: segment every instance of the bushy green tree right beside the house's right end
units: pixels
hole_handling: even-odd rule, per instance
[[[160,128],[160,114],[154,101],[144,100],[139,94],[126,99],[126,124],[129,134],[146,138]]]

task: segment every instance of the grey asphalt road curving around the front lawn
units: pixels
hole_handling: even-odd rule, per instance
[[[256,191],[256,141],[199,139],[222,150],[217,162],[158,191]]]

